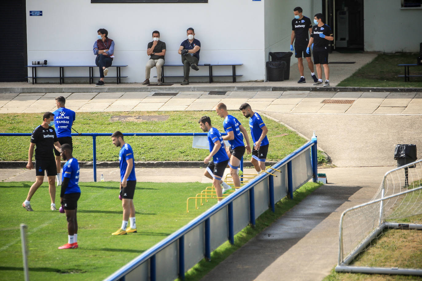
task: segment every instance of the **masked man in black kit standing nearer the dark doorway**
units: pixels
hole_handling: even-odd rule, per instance
[[[314,86],[322,85],[322,67],[324,66],[325,83],[324,87],[330,86],[330,69],[328,67],[328,44],[333,41],[333,32],[331,27],[324,24],[324,16],[322,13],[317,13],[314,17],[314,27],[312,27],[311,39],[306,48],[306,53],[311,52],[311,45],[314,43],[314,64],[317,67],[318,81],[315,82]]]

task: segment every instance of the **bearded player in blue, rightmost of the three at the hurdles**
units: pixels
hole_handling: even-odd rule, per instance
[[[268,153],[268,128],[262,121],[261,116],[257,112],[253,112],[249,104],[244,103],[239,108],[243,116],[249,118],[249,128],[251,128],[252,141],[254,148],[252,150],[251,163],[254,165],[257,173],[265,171],[265,159]]]

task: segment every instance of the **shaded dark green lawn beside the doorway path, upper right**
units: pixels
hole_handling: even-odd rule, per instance
[[[411,77],[404,82],[404,67],[397,64],[416,64],[416,53],[379,54],[352,76],[341,81],[339,87],[422,87],[422,77]],[[410,67],[410,75],[422,75],[422,67]]]

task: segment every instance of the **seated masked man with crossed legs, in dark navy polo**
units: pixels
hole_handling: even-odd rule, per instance
[[[192,27],[187,29],[187,39],[180,44],[179,54],[182,56],[182,63],[184,69],[184,79],[180,85],[189,85],[189,67],[193,70],[199,70],[199,52],[201,43],[195,39],[195,31]]]

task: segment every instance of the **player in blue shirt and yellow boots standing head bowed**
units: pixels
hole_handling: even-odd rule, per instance
[[[116,131],[111,135],[111,140],[116,147],[120,147],[120,195],[122,195],[123,222],[116,232],[111,235],[125,235],[136,231],[135,206],[133,205],[133,195],[135,194],[135,160],[133,158],[132,147],[124,142],[123,134]],[[130,227],[127,228],[127,222],[130,221]]]

